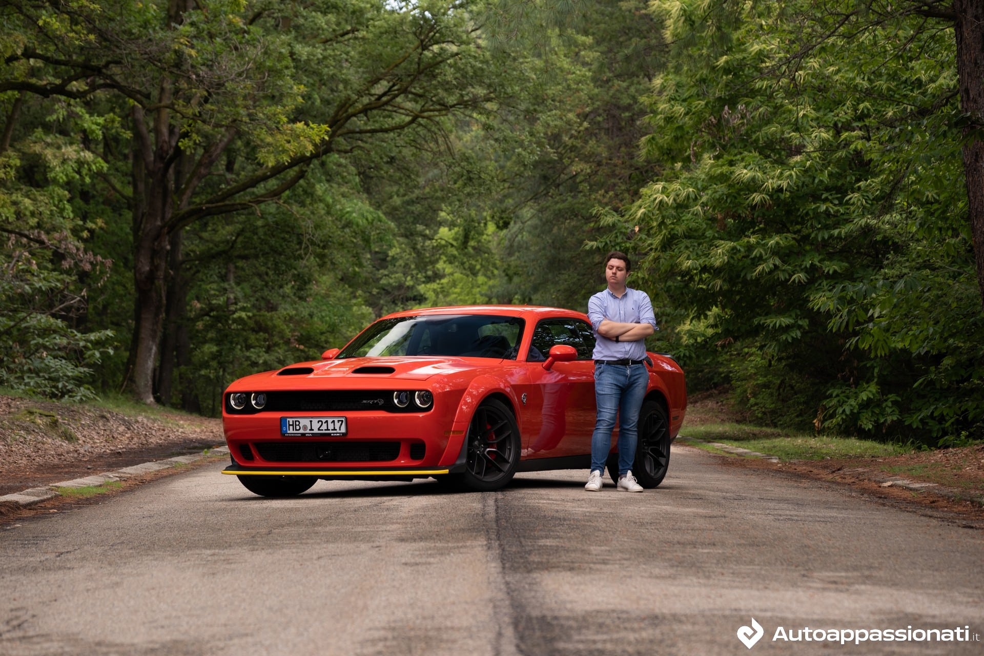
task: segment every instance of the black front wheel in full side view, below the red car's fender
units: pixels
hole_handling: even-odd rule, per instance
[[[483,401],[464,439],[464,473],[445,477],[442,483],[472,492],[492,492],[513,480],[522,445],[520,427],[509,406],[494,398]]]

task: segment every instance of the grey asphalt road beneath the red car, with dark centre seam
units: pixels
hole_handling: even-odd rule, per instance
[[[0,654],[984,654],[773,639],[984,640],[984,531],[718,462],[674,447],[644,494],[579,471],[291,500],[204,467],[0,529]]]

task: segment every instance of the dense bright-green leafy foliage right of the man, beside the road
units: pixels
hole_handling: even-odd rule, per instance
[[[809,3],[652,7],[677,48],[647,98],[663,168],[600,223],[639,226],[685,368],[716,353],[774,425],[979,432],[952,34],[899,14],[821,38],[834,9]]]

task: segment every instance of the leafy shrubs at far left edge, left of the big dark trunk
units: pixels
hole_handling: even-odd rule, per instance
[[[15,97],[0,94],[8,116]],[[111,330],[80,329],[88,287],[110,262],[82,240],[97,222],[73,192],[105,164],[66,133],[97,137],[106,122],[74,102],[54,102],[46,124],[0,149],[0,386],[50,398],[92,398],[93,366],[112,353]],[[85,281],[83,281],[85,278]]]

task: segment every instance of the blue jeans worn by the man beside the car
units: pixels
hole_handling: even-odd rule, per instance
[[[646,365],[594,364],[594,399],[598,416],[591,435],[591,471],[604,474],[616,415],[619,416],[619,475],[632,469],[632,462],[636,458],[639,411],[643,407],[648,384]]]

